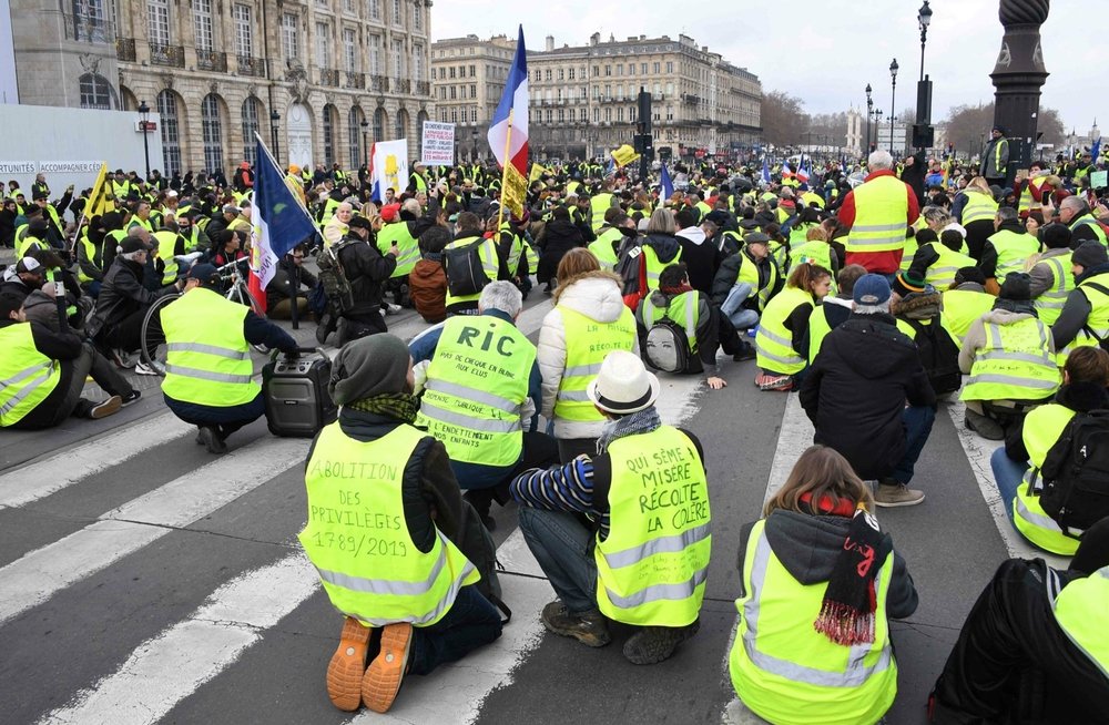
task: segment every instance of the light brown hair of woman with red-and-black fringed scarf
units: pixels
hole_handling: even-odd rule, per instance
[[[801,501],[806,493],[812,496],[807,510]],[[815,514],[825,499],[833,509],[841,501],[851,501],[868,511],[874,508],[871,487],[858,478],[847,459],[826,446],[812,446],[797,459],[785,486],[766,502],[763,515],[776,509]]]

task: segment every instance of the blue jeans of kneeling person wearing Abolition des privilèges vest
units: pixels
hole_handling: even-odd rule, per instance
[[[468,653],[500,636],[497,607],[474,584],[458,590],[458,596],[441,620],[431,626],[413,629],[409,653],[411,671],[426,675],[441,664],[461,660]]]

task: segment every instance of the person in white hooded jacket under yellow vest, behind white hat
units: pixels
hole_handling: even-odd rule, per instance
[[[639,335],[623,304],[618,278],[601,272],[589,249],[572,249],[559,263],[554,308],[539,330],[543,418],[551,421],[563,463],[596,450],[604,417],[586,387],[612,350],[639,355]]]

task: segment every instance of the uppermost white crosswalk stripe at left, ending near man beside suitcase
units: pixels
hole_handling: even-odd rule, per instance
[[[0,506],[26,506],[45,498],[195,429],[173,413],[164,413],[118,428],[45,460],[29,462],[0,476]]]

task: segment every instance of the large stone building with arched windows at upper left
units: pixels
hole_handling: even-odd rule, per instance
[[[434,118],[430,0],[11,0],[20,102],[161,114],[166,175],[365,163]],[[109,160],[111,163],[111,160]],[[151,165],[155,166],[154,160]]]

